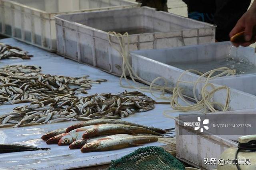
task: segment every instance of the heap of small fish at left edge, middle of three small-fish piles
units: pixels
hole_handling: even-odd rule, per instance
[[[0,68],[0,104],[28,103],[69,93],[84,93],[105,79],[92,81],[88,75],[67,77],[40,73],[36,65],[6,65]],[[70,86],[74,86],[71,88]]]

